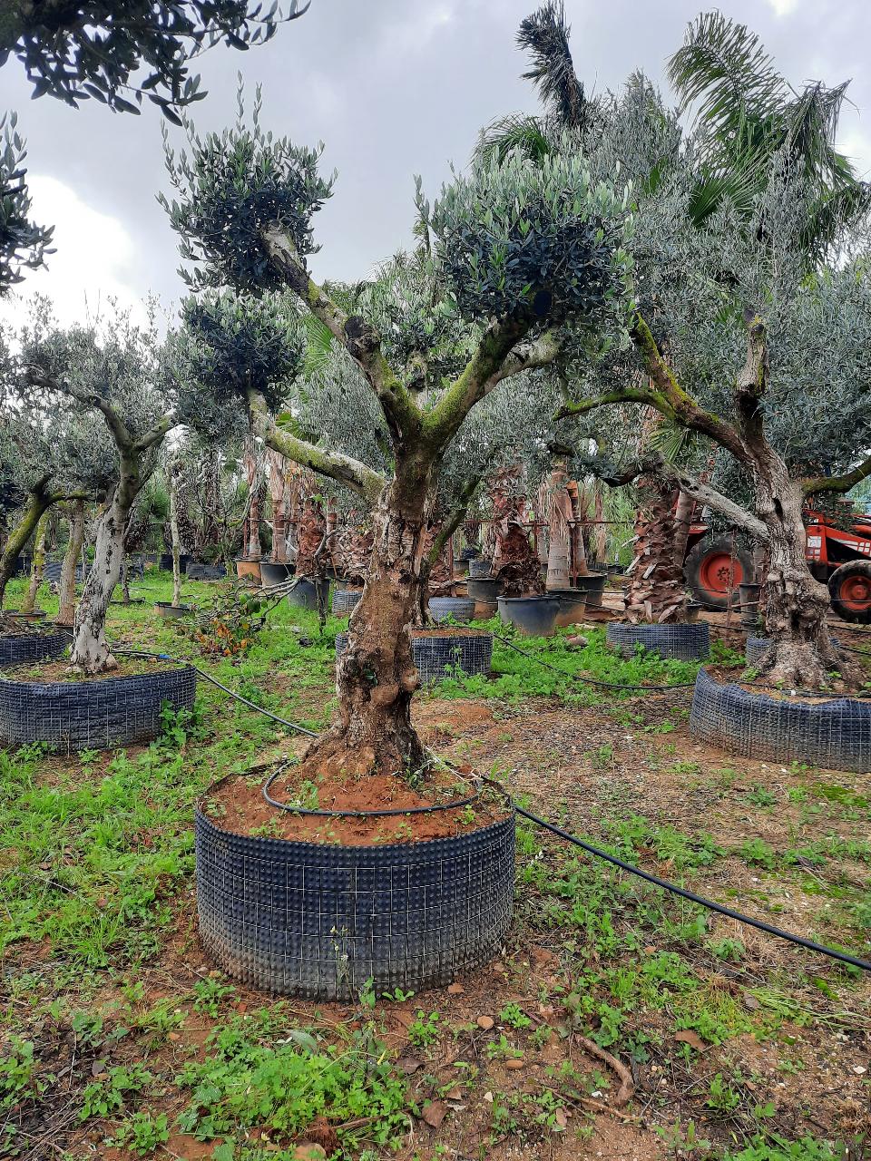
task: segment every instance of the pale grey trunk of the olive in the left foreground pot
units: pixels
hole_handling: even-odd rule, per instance
[[[106,615],[121,576],[127,519],[143,483],[136,455],[122,453],[121,477],[96,521],[94,563],[73,621],[70,666],[88,676],[117,669],[106,640]]]

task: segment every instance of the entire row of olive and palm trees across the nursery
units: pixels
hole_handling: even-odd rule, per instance
[[[185,431],[211,448],[251,438],[365,528],[340,715],[316,743],[337,770],[420,763],[410,626],[488,484],[508,591],[540,584],[523,497],[549,481],[552,522],[569,526],[570,481],[639,481],[635,615],[685,616],[676,545],[696,502],[764,554],[771,677],[849,678],[802,526],[808,497],[871,476],[870,200],[834,144],[845,86],[793,89],[714,13],[671,59],[681,104],[640,73],[593,100],[568,37],[561,5],[524,21],[541,115],[489,127],[433,201],[418,182],[415,248],[354,284],[311,275],[336,178],[262,129],[259,92],[223,132],[185,120],[161,202],[189,293],[167,337],[43,311],[7,352],[7,424],[42,441],[31,527],[102,473],[73,664],[110,663],[125,528]],[[17,268],[45,244],[26,238]],[[298,572],[317,567],[319,495],[297,521]]]

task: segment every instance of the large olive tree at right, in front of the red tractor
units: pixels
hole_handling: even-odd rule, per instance
[[[662,456],[620,478],[656,473],[765,545],[772,646],[762,668],[790,685],[819,685],[849,666],[833,650],[828,591],[805,557],[802,509],[871,475],[864,232],[842,231],[838,260],[808,273],[808,190],[789,158],[772,164],[751,212],[726,201],[704,231],[686,212],[691,178],[676,161],[639,208],[631,342],[578,366],[576,397],[562,413],[643,404],[732,459],[746,505]]]

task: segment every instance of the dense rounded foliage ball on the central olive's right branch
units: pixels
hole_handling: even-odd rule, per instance
[[[519,151],[480,160],[419,209],[467,317],[593,323],[622,289],[627,196],[593,186],[569,149],[538,164]]]

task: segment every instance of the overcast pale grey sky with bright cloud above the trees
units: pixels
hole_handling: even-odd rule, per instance
[[[481,125],[537,108],[520,79],[519,21],[538,0],[312,0],[298,21],[249,52],[217,48],[200,62],[207,100],[199,129],[235,115],[236,75],[264,89],[262,122],[301,143],[326,144],[339,171],[316,218],[321,277],[354,279],[409,238],[415,173],[432,196],[453,160],[463,165]],[[721,9],[750,24],[793,84],[852,79],[841,144],[871,171],[871,2],[730,0]],[[662,84],[664,63],[701,10],[692,0],[566,0],[571,50],[588,89],[618,87],[635,68]],[[37,221],[53,223],[57,253],[23,293],[55,300],[64,322],[100,296],[141,303],[150,291],[171,311],[181,293],[175,236],[154,194],[166,189],[160,114],[113,114],[95,102],[70,109],[30,100],[19,63],[0,70],[0,104],[17,109],[28,139]],[[170,127],[180,146],[183,134]],[[3,313],[20,317],[21,303]]]

